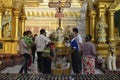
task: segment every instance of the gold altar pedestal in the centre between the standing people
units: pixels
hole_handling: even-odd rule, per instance
[[[66,50],[67,49],[67,50]],[[52,74],[70,74],[70,52],[68,47],[63,42],[55,42],[55,60],[52,61],[51,70]],[[68,52],[66,52],[68,51]]]

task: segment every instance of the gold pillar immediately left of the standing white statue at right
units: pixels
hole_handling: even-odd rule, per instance
[[[95,39],[95,16],[94,11],[90,12],[90,35],[92,36],[92,41]]]

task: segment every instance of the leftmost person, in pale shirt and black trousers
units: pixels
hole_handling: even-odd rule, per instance
[[[23,33],[24,37],[21,38],[20,40],[20,52],[22,54],[22,56],[25,58],[25,61],[19,71],[19,73],[26,73],[27,74],[27,70],[28,70],[28,64],[29,64],[29,60],[30,60],[30,48],[29,48],[29,38],[31,36],[31,32],[30,31],[25,31]]]

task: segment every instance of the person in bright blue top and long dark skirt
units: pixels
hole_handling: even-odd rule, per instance
[[[72,59],[72,68],[73,72],[79,74],[81,72],[81,59],[79,54],[79,45],[74,37],[74,34],[70,34],[70,44],[71,44],[71,59]]]

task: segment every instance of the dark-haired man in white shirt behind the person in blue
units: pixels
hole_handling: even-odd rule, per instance
[[[77,41],[77,44],[78,44],[78,52],[79,52],[79,55],[81,55],[82,37],[81,37],[81,35],[78,33],[78,28],[73,28],[72,31],[73,31],[74,34],[75,34],[75,40]],[[80,71],[82,72],[81,56],[80,56]]]

